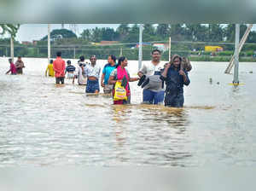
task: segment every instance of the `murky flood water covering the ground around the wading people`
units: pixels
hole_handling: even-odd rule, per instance
[[[56,86],[44,77],[47,59],[23,61],[24,75],[11,76],[0,58],[0,166],[256,165],[256,63],[241,63],[234,87],[227,62],[192,62],[175,109],[142,105],[137,82],[132,104],[113,106],[70,79]],[[128,70],[135,76],[137,61]]]

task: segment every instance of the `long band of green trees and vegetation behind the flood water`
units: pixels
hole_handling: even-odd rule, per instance
[[[173,54],[190,55],[192,50],[201,51],[209,43],[222,46],[224,50],[230,51],[229,54],[232,54],[234,50],[235,24],[145,24],[143,27],[143,42],[168,42],[169,37],[172,37]],[[247,26],[242,24],[240,27],[242,36]],[[116,29],[110,27],[84,29],[79,36],[67,29],[55,29],[50,32],[52,55],[55,51],[61,50],[64,53],[63,56],[68,58],[93,54],[106,59],[109,54],[119,55],[120,49],[123,49],[123,55],[137,60],[138,50],[131,49],[131,47],[138,43],[138,38],[139,26],[137,24],[120,24]],[[47,39],[48,36],[45,35],[34,46],[15,41],[15,55],[47,57]],[[101,41],[118,41],[119,45],[96,46],[91,44]],[[246,43],[252,44],[247,44],[242,51],[252,53],[256,50],[256,45],[253,44],[256,43],[256,32],[250,32]],[[3,44],[9,44],[9,39],[0,39],[0,44],[2,45],[0,55],[9,55],[9,49],[3,47]],[[150,59],[152,49],[154,49],[152,45],[143,47],[144,60]],[[168,53],[164,53],[164,56],[167,58]]]

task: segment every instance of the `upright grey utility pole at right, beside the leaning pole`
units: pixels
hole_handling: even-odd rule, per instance
[[[236,24],[236,41],[235,41],[235,67],[234,67],[234,80],[233,84],[238,85],[238,69],[239,69],[239,35],[240,35],[240,24]]]

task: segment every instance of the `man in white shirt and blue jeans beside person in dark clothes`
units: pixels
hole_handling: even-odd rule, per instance
[[[143,103],[162,104],[165,98],[165,90],[160,74],[164,70],[164,65],[160,63],[161,52],[154,49],[151,53],[152,61],[143,64],[137,73],[140,77],[138,85],[143,88]]]

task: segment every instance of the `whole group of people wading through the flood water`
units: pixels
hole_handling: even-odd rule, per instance
[[[126,69],[128,61],[125,56],[120,56],[117,61],[114,55],[109,55],[108,63],[101,72],[101,67],[96,63],[96,55],[90,56],[90,63],[85,62],[82,55],[77,67],[74,67],[71,61],[67,61],[66,67],[65,61],[61,58],[61,52],[57,52],[55,61],[49,61],[45,76],[48,73],[50,77],[55,77],[56,84],[64,84],[65,76],[72,78],[73,84],[77,79],[79,85],[86,86],[86,93],[98,94],[101,85],[104,94],[113,96],[113,104],[130,104],[129,83],[138,81],[137,85],[143,88],[143,103],[162,104],[164,102],[166,107],[183,107],[183,85],[189,85],[188,72],[192,69],[189,59],[172,55],[171,61],[163,64],[160,62],[159,49],[154,49],[151,55],[152,60],[144,62],[137,72],[137,77],[131,78]],[[9,72],[14,70],[12,64],[10,62]],[[125,99],[114,99],[116,93],[119,93],[116,89],[117,84],[122,87],[123,93],[125,92]]]

